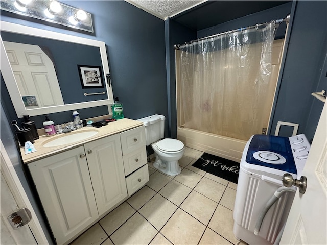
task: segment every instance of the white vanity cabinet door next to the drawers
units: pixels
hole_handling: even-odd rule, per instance
[[[119,134],[84,144],[99,215],[127,197]]]

